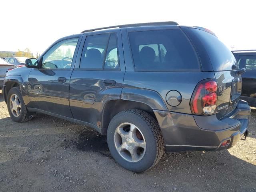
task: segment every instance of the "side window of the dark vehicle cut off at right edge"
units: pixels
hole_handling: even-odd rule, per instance
[[[238,57],[239,68],[256,71],[256,55],[240,55]]]

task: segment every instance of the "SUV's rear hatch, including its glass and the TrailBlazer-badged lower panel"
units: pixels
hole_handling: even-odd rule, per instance
[[[190,28],[189,30],[198,41],[196,44],[200,44],[201,50],[198,53],[205,52],[208,55],[208,58],[204,58],[205,60],[201,59],[202,70],[214,71],[218,83],[216,115],[220,119],[232,112],[240,100],[242,90],[241,74],[244,70],[239,70],[234,55],[215,34],[208,30],[202,30],[202,28]],[[202,49],[204,50],[202,51]],[[202,62],[202,60],[206,62]]]

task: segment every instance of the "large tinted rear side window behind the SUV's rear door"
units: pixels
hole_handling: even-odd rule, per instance
[[[199,71],[197,56],[179,29],[129,32],[136,71]]]

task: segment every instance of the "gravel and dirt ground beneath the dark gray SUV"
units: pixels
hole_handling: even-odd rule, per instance
[[[91,128],[37,114],[10,119],[0,92],[0,191],[256,191],[256,111],[250,135],[229,150],[164,154],[142,174],[119,166],[106,136]]]

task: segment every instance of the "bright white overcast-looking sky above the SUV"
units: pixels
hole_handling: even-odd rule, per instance
[[[256,49],[254,0],[1,0],[0,51],[42,54],[90,28],[176,21],[212,30],[230,50]]]

